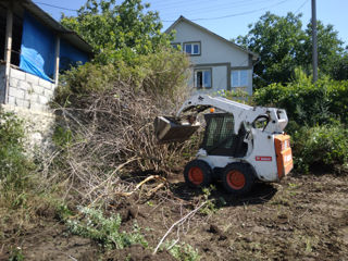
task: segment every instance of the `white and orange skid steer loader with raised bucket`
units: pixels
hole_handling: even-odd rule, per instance
[[[196,95],[184,102],[176,116],[154,120],[159,142],[188,139],[200,126],[197,114],[208,109],[203,141],[184,170],[189,186],[208,186],[216,178],[228,192],[245,195],[257,179],[278,182],[291,171],[290,137],[283,132],[288,119],[282,109]],[[189,114],[184,116],[184,112]]]

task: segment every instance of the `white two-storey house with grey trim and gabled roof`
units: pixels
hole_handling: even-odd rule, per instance
[[[240,88],[252,95],[253,64],[259,55],[181,16],[166,30],[175,30],[172,46],[181,47],[191,60],[189,82],[197,90]]]

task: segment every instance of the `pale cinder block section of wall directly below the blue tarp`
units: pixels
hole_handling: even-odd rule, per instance
[[[17,69],[10,69],[9,97],[7,104],[49,111],[48,102],[53,97],[55,85],[40,77]]]

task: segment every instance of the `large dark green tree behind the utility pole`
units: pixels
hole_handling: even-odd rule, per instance
[[[296,67],[311,72],[311,25],[302,29],[301,14],[278,16],[266,12],[256,24],[249,25],[246,36],[235,40],[260,54],[254,66],[259,76],[254,83],[262,87],[271,83],[287,83],[294,78]],[[319,67],[322,74],[333,76],[332,67],[343,58],[343,41],[332,25],[318,22]]]

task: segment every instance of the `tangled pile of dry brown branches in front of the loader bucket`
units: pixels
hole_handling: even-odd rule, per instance
[[[103,92],[71,97],[71,105],[57,109],[57,114],[59,127],[72,138],[55,152],[50,175],[63,176],[67,191],[73,189],[91,202],[132,191],[136,184],[121,181],[123,174],[147,171],[165,175],[182,166],[195,151],[192,141],[158,145],[153,120],[163,112],[175,112],[183,94],[175,103],[117,80]]]

